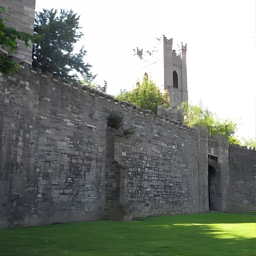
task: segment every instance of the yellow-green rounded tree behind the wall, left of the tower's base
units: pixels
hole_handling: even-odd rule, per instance
[[[152,80],[143,78],[143,82],[137,82],[136,87],[131,91],[121,90],[115,97],[118,100],[128,101],[133,103],[144,110],[150,110],[153,113],[157,113],[158,105],[162,105],[165,108],[170,107],[169,93],[166,90],[164,95],[161,94],[158,87]]]

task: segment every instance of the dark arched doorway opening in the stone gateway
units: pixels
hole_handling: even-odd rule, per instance
[[[216,170],[211,165],[208,165],[208,194],[209,194],[209,210],[217,210],[217,190]]]

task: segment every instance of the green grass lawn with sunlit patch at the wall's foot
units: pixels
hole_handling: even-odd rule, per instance
[[[202,213],[0,230],[0,255],[256,255],[255,215]]]

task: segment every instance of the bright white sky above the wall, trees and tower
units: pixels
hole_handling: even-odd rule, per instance
[[[84,37],[79,47],[107,92],[132,89],[133,48],[164,34],[187,43],[188,98],[238,123],[238,137],[256,134],[255,0],[36,0],[36,11],[73,9]]]

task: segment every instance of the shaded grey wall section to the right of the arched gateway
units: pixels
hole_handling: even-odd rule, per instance
[[[228,210],[256,209],[256,151],[229,144]]]

